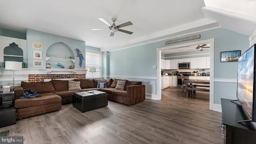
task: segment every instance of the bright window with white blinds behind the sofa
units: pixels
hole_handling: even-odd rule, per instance
[[[86,50],[86,78],[102,78],[102,52]],[[96,68],[96,72],[89,72],[90,68]]]

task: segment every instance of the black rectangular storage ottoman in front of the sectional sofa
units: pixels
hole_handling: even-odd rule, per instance
[[[98,90],[75,92],[72,96],[72,104],[81,112],[94,110],[108,106],[108,94]]]

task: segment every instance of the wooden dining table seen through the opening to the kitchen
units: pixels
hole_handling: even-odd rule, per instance
[[[206,88],[195,88],[195,87],[190,88],[189,87],[191,84],[208,84],[208,86],[206,86],[206,87],[209,87],[210,80],[191,80],[191,79],[188,79],[188,80],[184,80],[184,82],[186,84],[186,97],[187,98],[190,97],[190,92],[192,90],[210,91],[210,89],[206,89]],[[200,85],[200,87],[204,87],[204,86]]]

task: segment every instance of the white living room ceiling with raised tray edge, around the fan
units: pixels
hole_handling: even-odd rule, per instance
[[[112,51],[218,26],[250,36],[256,30],[255,0],[0,0],[0,28],[26,32],[26,28],[74,38],[87,46]],[[232,4],[228,5],[227,2]],[[242,3],[242,5],[241,5]],[[122,29],[110,30],[98,20]]]

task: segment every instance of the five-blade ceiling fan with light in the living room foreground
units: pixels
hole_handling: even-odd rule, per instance
[[[120,29],[122,27],[132,25],[132,22],[130,22],[130,21],[116,26],[116,24],[115,24],[116,18],[112,18],[112,21],[113,21],[112,25],[110,23],[108,23],[104,18],[98,18],[98,19],[101,20],[102,22],[104,22],[109,27],[108,28],[94,28],[92,30],[108,30],[109,29],[110,32],[111,32],[110,36],[114,36],[114,33],[117,32],[117,31],[124,32],[126,34],[132,34],[133,33],[133,32],[127,31],[127,30]]]

